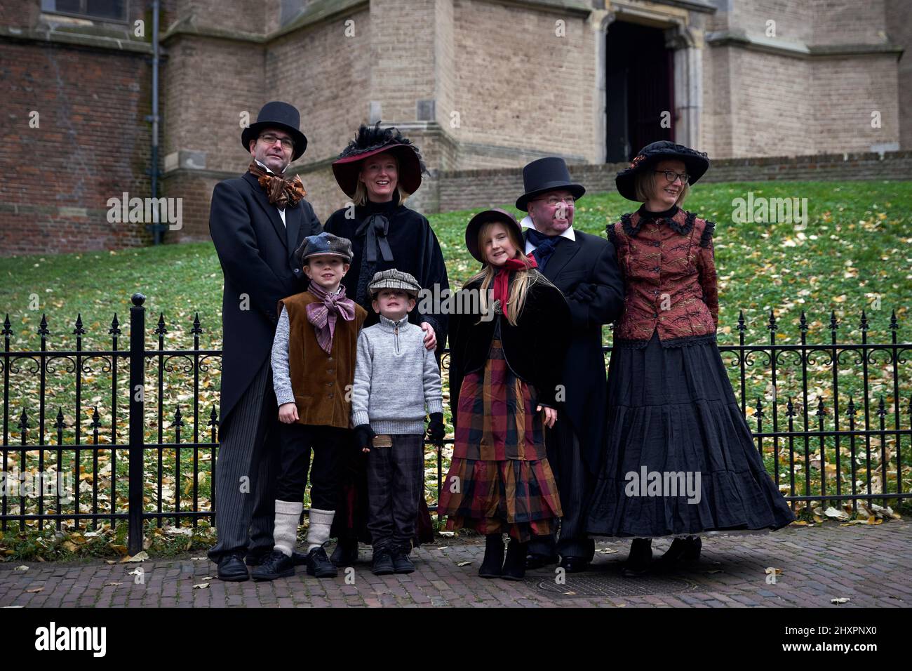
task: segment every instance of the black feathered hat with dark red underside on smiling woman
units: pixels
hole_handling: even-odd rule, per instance
[[[380,128],[380,121],[373,126],[361,125],[358,135],[339,154],[333,163],[333,174],[339,187],[349,196],[355,195],[361,162],[378,153],[390,152],[399,160],[399,185],[407,194],[414,194],[421,185],[424,162],[418,147],[402,137],[395,127]]]

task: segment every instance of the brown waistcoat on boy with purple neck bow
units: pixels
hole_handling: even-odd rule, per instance
[[[368,313],[355,305],[355,319],[336,320],[332,351],[316,342],[307,306],[316,298],[309,291],[279,301],[288,312],[288,369],[297,405],[297,424],[351,426],[351,385],[355,380],[358,333]]]

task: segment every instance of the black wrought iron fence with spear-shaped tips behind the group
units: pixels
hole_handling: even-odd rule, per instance
[[[11,351],[7,315],[0,528],[24,530],[34,520],[38,528],[67,522],[97,529],[99,521],[127,520],[134,553],[148,520],[160,527],[167,519],[175,526],[214,521],[221,351],[201,349],[198,316],[192,349],[168,349],[163,315],[153,330],[156,346],[148,349],[144,301],[132,297],[126,349],[115,315],[109,350],[83,348],[79,316],[75,349],[48,350],[43,317],[39,349]],[[807,341],[812,326],[802,313],[797,342],[782,342],[788,337],[771,312],[769,341],[748,344],[741,312],[738,344],[724,344],[720,334],[741,412],[756,425],[757,449],[783,496],[793,507],[845,502],[855,510],[859,501],[886,507],[912,496],[912,445],[905,452],[903,445],[912,443],[912,380],[904,358],[912,344],[898,341],[896,314],[886,343],[868,341],[865,312],[860,342],[838,341],[838,331],[851,325],[834,313],[828,325],[814,325],[830,331],[828,343]],[[605,351],[610,355],[611,348]],[[444,369],[447,360],[444,353]],[[451,443],[431,446],[436,464],[429,490],[436,500]]]

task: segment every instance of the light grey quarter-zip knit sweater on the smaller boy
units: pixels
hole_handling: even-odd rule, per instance
[[[425,408],[443,412],[440,369],[424,347],[424,331],[380,315],[358,335],[358,361],[351,393],[352,425],[369,424],[378,434],[423,434]]]

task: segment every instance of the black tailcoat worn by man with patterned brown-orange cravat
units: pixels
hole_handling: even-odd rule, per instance
[[[306,200],[285,207],[283,225],[251,173],[215,185],[209,234],[225,280],[222,425],[272,351],[278,301],[307,288],[304,272],[295,267],[295,249],[321,231]]]

